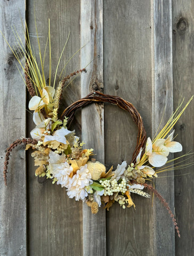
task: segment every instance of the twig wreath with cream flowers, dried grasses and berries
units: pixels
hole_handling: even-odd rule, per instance
[[[64,77],[58,82],[55,90],[50,82],[48,86],[46,85],[44,73],[40,75],[41,71],[28,41],[27,47],[25,68],[23,68],[19,56],[12,51],[26,76],[26,85],[32,97],[29,101],[29,109],[33,110],[33,122],[36,127],[30,132],[31,138],[18,139],[6,149],[5,185],[7,185],[6,176],[10,153],[13,148],[23,143],[26,145],[26,150],[33,149],[31,156],[35,159],[37,167],[35,175],[52,179],[52,183],[66,189],[70,198],[74,198],[76,201],[80,199],[85,201],[91,207],[92,213],[96,214],[98,207],[102,205],[109,210],[115,202],[119,203],[123,209],[126,206],[135,208],[131,194],[150,198],[150,194],[145,191],[147,189],[153,192],[166,207],[180,236],[174,214],[164,198],[149,184],[149,181],[156,178],[158,173],[173,170],[173,161],[180,159],[180,157],[169,161],[167,159],[170,153],[182,151],[181,144],[173,141],[174,131],[172,128],[187,108],[192,97],[183,108],[183,101],[181,102],[166,125],[152,140],[150,137],[146,137],[144,124],[137,109],[130,102],[114,95],[92,92],[87,97],[72,103],[59,117],[58,110],[64,86],[72,76],[86,72],[86,69],[80,69]],[[129,159],[126,159],[126,161],[118,163],[115,170],[113,166],[106,170],[105,165],[94,158],[94,150],[84,146],[85,143],[80,141],[80,138],[75,135],[75,131],[69,130],[75,111],[92,102],[108,102],[130,113],[138,127],[137,144],[130,163],[127,163]],[[176,169],[178,168],[177,164],[179,163],[176,163]],[[185,164],[185,166],[187,165]]]

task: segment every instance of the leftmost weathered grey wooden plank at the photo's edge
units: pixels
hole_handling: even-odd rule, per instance
[[[25,44],[25,1],[1,1],[0,30],[11,46],[18,46],[12,27]],[[0,34],[1,35],[1,34]],[[0,255],[27,255],[26,241],[26,161],[23,147],[13,150],[9,161],[7,187],[3,181],[5,149],[26,135],[26,88],[9,46],[0,36]],[[22,72],[22,68],[19,67]]]

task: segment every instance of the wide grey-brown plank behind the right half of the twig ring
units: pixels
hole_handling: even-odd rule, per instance
[[[150,1],[104,1],[105,93],[130,101],[151,137]],[[137,127],[130,115],[105,106],[105,163],[130,164]],[[132,195],[136,210],[115,203],[107,212],[108,255],[154,255],[151,199]]]

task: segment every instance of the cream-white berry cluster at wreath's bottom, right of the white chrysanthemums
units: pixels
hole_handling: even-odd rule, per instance
[[[101,185],[104,187],[104,195],[112,196],[113,193],[125,193],[126,192],[126,180],[122,179],[121,183],[117,183],[116,179],[114,180],[100,180]]]

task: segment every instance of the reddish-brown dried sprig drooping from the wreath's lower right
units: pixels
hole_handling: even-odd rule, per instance
[[[156,197],[162,202],[162,204],[165,206],[166,210],[168,211],[168,213],[170,214],[172,221],[174,222],[174,226],[176,229],[176,232],[178,233],[178,236],[181,237],[180,235],[180,231],[179,231],[179,227],[176,223],[176,219],[174,217],[174,214],[172,212],[172,210],[170,209],[170,206],[168,205],[168,203],[166,202],[166,200],[163,198],[163,196],[161,194],[158,193],[157,189],[155,189],[153,186],[148,185],[147,183],[144,183],[144,187],[149,189],[150,191],[152,191],[154,193],[154,195],[156,195]]]

